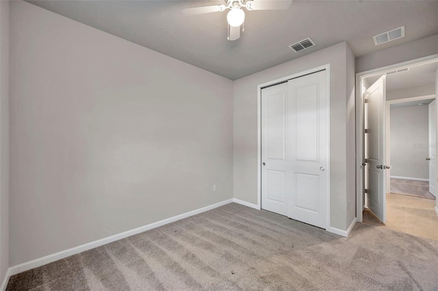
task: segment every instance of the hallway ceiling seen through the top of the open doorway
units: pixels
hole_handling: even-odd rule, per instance
[[[435,84],[435,72],[438,69],[438,61],[421,66],[412,66],[406,72],[388,74],[386,77],[386,90],[393,91],[409,87]],[[366,78],[368,84],[377,81],[383,74]]]

